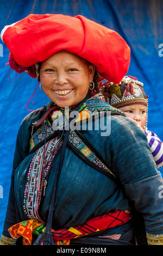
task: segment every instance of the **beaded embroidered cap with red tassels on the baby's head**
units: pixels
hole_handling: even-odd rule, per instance
[[[108,90],[108,92],[106,92]],[[144,104],[147,106],[147,96],[143,89],[143,83],[136,77],[124,76],[118,84],[105,82],[103,92],[111,106],[124,107],[131,104]]]

